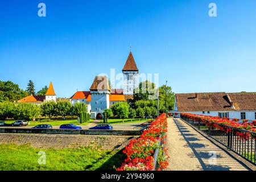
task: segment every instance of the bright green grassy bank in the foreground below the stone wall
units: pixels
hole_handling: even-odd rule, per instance
[[[42,149],[28,144],[0,144],[1,171],[106,171],[119,167],[125,159],[121,151],[95,147]],[[39,164],[39,151],[46,152],[46,164]]]

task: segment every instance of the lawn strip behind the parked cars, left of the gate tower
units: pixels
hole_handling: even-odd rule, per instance
[[[16,120],[5,121],[5,123],[11,124],[14,121],[16,121]],[[80,125],[88,125],[92,121],[93,121],[93,119],[90,119],[90,121],[80,123]],[[38,121],[36,121],[35,123],[33,121],[30,121],[30,126],[40,125],[40,124],[44,124],[44,123],[47,123],[47,124],[52,125],[52,126],[60,126],[60,125],[63,125],[63,124],[68,124],[68,123],[73,123],[74,125],[79,125],[77,119],[67,119],[67,120],[52,120],[51,122],[38,122]]]

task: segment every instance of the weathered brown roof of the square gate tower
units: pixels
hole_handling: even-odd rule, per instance
[[[92,86],[90,86],[90,90],[109,90],[109,80],[106,76],[96,76],[94,78],[94,81],[92,83]]]

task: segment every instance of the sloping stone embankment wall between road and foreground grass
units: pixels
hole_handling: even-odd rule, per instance
[[[37,148],[76,148],[80,146],[97,146],[103,150],[121,150],[133,138],[137,137],[108,135],[0,133],[0,144],[31,144],[31,146]]]

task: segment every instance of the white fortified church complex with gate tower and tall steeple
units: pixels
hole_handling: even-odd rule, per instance
[[[116,102],[125,102],[133,98],[133,90],[137,86],[138,68],[130,52],[123,72],[123,89],[110,89],[106,76],[96,76],[90,86],[90,91],[77,91],[69,98],[72,105],[82,102],[87,105],[92,119],[103,118],[104,109],[109,109]]]

